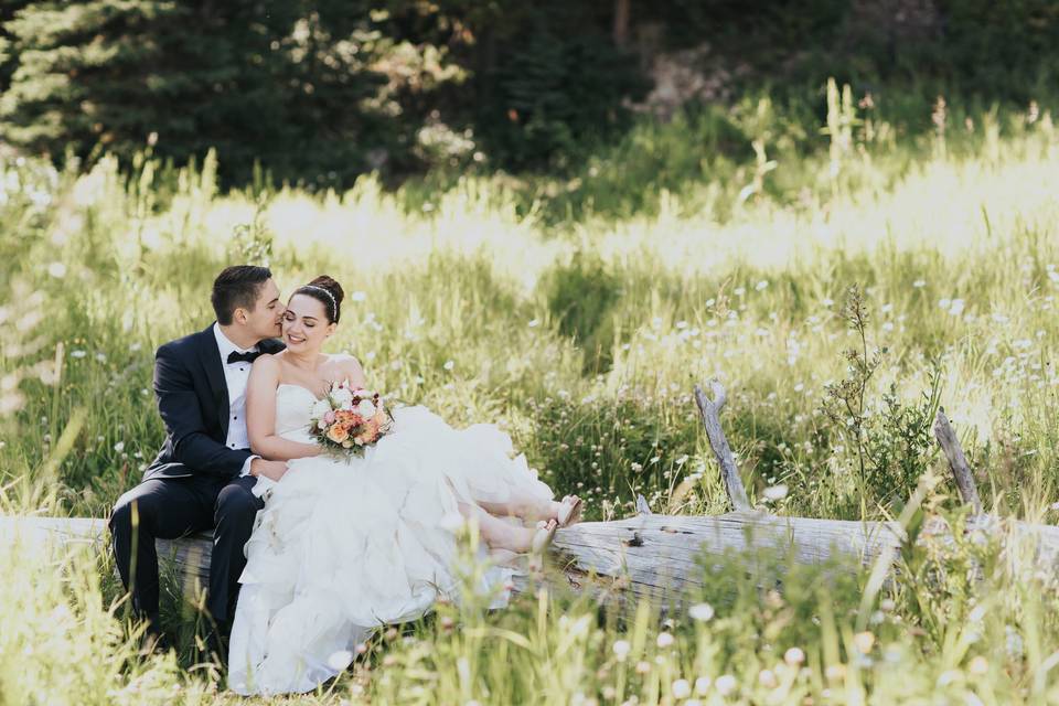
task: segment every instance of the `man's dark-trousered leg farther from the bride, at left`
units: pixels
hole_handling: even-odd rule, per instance
[[[158,554],[154,539],[175,539],[210,526],[211,511],[192,478],[146,480],[114,505],[115,563],[132,607],[158,629]]]

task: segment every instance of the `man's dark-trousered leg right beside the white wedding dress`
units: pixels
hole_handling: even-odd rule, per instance
[[[250,492],[256,482],[252,475],[234,478],[217,495],[207,608],[223,631],[235,618],[239,576],[246,567],[243,549],[254,530],[257,511],[265,506],[264,501]]]

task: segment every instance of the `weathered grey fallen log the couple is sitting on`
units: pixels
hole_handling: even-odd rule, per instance
[[[106,541],[103,520],[87,517],[0,517],[0,537],[69,542]],[[999,537],[1005,549],[1018,548],[1036,569],[1059,571],[1059,527],[994,517],[971,517],[969,532]],[[933,520],[920,541],[952,542],[948,525]],[[648,598],[675,607],[694,600],[707,582],[724,580],[732,561],[751,567],[764,556],[822,571],[860,571],[881,561],[892,567],[905,531],[897,522],[852,522],[782,517],[760,512],[716,516],[637,515],[611,522],[582,522],[556,533],[550,549],[561,571],[542,577],[520,574],[515,590],[539,580],[592,593]],[[160,560],[175,570],[183,592],[194,598],[208,584],[212,533],[157,541]],[[565,576],[565,578],[563,578]],[[781,578],[781,577],[777,577]]]

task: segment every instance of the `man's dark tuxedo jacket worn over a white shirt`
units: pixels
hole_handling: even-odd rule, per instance
[[[275,339],[258,343],[258,350],[265,353],[284,347]],[[228,386],[212,323],[204,331],[158,349],[154,395],[165,424],[165,442],[143,471],[143,480],[199,474],[232,478],[239,473],[250,452],[225,446]]]

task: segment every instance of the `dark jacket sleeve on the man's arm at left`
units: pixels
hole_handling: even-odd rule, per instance
[[[154,395],[158,411],[173,445],[173,460],[189,471],[235,475],[250,453],[229,449],[213,439],[202,420],[199,395],[188,368],[169,346],[154,355]]]

